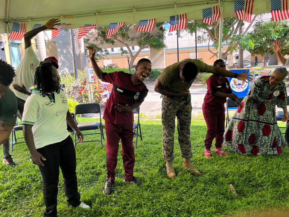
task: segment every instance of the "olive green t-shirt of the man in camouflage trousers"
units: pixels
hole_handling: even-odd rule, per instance
[[[195,60],[195,59],[184,59],[180,62],[176,62],[172,65],[169,65],[162,71],[162,74],[160,75],[159,82],[164,85],[168,90],[178,93],[181,90],[189,89],[193,83],[194,80],[191,82],[183,83],[183,81],[180,78],[180,72],[179,72],[179,65],[183,62],[192,62],[194,63],[197,68],[198,72],[208,72],[209,71],[209,65],[205,64],[201,60]]]

